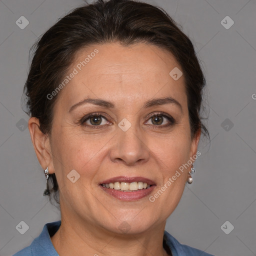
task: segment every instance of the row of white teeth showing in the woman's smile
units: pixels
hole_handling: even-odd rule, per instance
[[[150,187],[149,184],[142,182],[142,181],[138,181],[138,182],[114,182],[114,183],[107,183],[107,184],[102,184],[103,187],[107,187],[107,188],[111,188],[111,189],[115,189],[115,190],[122,190],[122,191],[135,191],[138,189],[145,189]]]

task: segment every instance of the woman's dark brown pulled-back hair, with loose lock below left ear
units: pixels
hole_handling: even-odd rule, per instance
[[[192,42],[161,7],[135,0],[97,0],[75,8],[33,44],[24,85],[28,109],[25,112],[38,118],[41,132],[50,137],[53,107],[59,93],[50,100],[47,95],[62,81],[77,51],[107,42],[119,42],[122,46],[144,42],[172,53],[185,79],[191,138],[198,130],[209,137],[201,122],[206,118],[200,116],[205,78]],[[54,173],[49,175],[49,181],[49,195],[53,194],[59,204]]]

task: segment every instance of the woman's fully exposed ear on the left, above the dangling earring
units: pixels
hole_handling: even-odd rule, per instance
[[[54,173],[52,161],[50,139],[48,134],[44,134],[40,130],[39,120],[36,117],[30,117],[28,120],[28,129],[33,143],[34,151],[37,159],[43,169],[48,167],[49,173]]]

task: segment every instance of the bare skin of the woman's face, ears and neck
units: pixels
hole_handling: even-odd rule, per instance
[[[35,117],[28,123],[38,161],[55,173],[60,187],[61,226],[51,241],[61,256],[167,255],[162,247],[165,222],[180,200],[190,167],[154,202],[148,196],[121,201],[98,183],[120,175],[143,176],[156,183],[153,195],[196,153],[200,131],[190,137],[184,77],[175,81],[169,75],[181,67],[157,46],[112,42],[80,50],[70,70],[95,48],[96,56],[59,92],[50,136],[39,130]],[[182,110],[174,103],[142,108],[145,101],[166,96]],[[85,97],[111,101],[115,107],[86,103],[68,112]],[[155,124],[151,116],[159,111],[176,123],[161,128],[171,122],[160,115],[163,122]],[[89,119],[79,122],[95,112],[106,116],[98,129]],[[118,127],[123,118],[131,123],[125,132]],[[80,175],[75,183],[66,177],[72,169]],[[126,233],[118,228],[123,221],[129,226]]]

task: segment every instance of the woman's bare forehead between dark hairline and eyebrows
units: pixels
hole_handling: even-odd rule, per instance
[[[184,77],[174,80],[169,74],[173,68],[181,70],[170,52],[155,45],[122,46],[117,42],[92,45],[76,53],[69,69],[69,72],[76,70],[76,74],[64,87],[61,97],[71,103],[86,96],[132,103],[170,95],[184,103]]]

